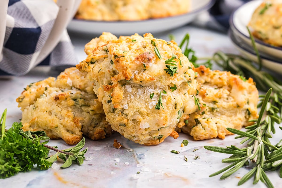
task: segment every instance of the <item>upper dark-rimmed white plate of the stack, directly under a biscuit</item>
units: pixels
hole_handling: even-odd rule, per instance
[[[251,44],[250,35],[246,26],[248,25],[252,14],[254,13],[255,9],[262,3],[262,0],[254,0],[244,5],[240,6],[237,10],[233,12],[230,17],[229,23],[230,28],[232,29],[233,33],[236,36],[239,36],[245,43],[248,45]],[[265,52],[269,56],[273,56],[276,58],[282,58],[282,48],[281,47],[274,47],[269,45],[259,39],[255,39],[255,44],[257,49],[260,52]]]

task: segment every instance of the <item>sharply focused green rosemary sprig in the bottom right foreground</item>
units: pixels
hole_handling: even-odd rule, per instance
[[[282,145],[282,140],[276,145],[272,145],[268,139],[268,137],[271,137],[270,133],[275,132],[274,122],[281,123],[281,118],[271,115],[271,111],[276,109],[275,107],[269,107],[269,109],[266,110],[271,100],[271,92],[272,89],[269,89],[265,94],[259,113],[259,118],[257,120],[253,120],[254,125],[247,127],[248,129],[246,132],[227,128],[228,131],[239,135],[235,138],[245,137],[240,144],[248,141],[247,147],[239,149],[233,145],[226,148],[204,146],[205,149],[210,151],[232,154],[230,158],[222,159],[222,162],[233,162],[233,164],[211,174],[210,176],[215,176],[224,172],[220,179],[225,179],[243,167],[243,165],[248,165],[249,161],[251,161],[256,164],[255,167],[242,177],[242,179],[238,182],[238,185],[243,184],[252,176],[254,176],[254,184],[261,180],[266,184],[267,187],[273,187],[272,183],[266,176],[265,171],[272,170],[273,168],[282,168],[282,148],[279,149],[279,147]],[[270,154],[268,154],[268,151],[271,151]]]

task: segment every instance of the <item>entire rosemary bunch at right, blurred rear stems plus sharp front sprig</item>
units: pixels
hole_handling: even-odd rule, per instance
[[[251,33],[250,36],[252,36]],[[195,67],[205,65],[211,68],[211,63],[216,63],[224,70],[239,75],[243,81],[252,77],[256,82],[256,87],[266,92],[265,95],[259,96],[258,107],[261,107],[259,118],[250,120],[254,122],[254,125],[246,127],[246,132],[227,128],[228,131],[239,135],[235,138],[244,138],[240,144],[247,142],[247,147],[240,149],[231,145],[226,148],[217,146],[204,146],[204,148],[210,151],[232,154],[229,158],[222,160],[224,163],[232,164],[210,176],[224,172],[221,176],[221,179],[224,179],[244,165],[249,165],[249,161],[251,161],[255,163],[255,167],[241,178],[238,185],[242,185],[254,176],[254,184],[261,180],[267,187],[273,187],[265,172],[279,169],[279,176],[282,178],[282,140],[276,145],[272,145],[269,140],[269,138],[272,138],[271,133],[275,134],[276,132],[275,123],[279,124],[282,121],[282,82],[268,72],[261,70],[261,59],[253,37],[251,37],[251,41],[258,57],[259,68],[254,65],[254,62],[243,56],[223,52],[216,52],[213,57],[206,59],[206,63],[198,63],[199,58],[195,56],[195,52],[191,48],[188,48],[189,35],[184,37],[179,46],[182,47],[186,42],[186,47],[183,50],[184,55]],[[279,128],[282,130],[282,127]]]

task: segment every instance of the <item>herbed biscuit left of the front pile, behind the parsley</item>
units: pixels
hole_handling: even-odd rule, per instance
[[[67,68],[57,79],[49,77],[31,83],[17,98],[22,110],[23,130],[45,131],[51,139],[78,143],[82,134],[92,140],[111,135],[102,103],[93,84],[75,67]]]

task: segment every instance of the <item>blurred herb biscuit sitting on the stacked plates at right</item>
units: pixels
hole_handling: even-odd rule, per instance
[[[282,1],[265,0],[252,15],[253,35],[266,43],[282,46]]]

